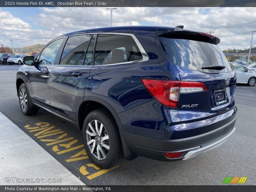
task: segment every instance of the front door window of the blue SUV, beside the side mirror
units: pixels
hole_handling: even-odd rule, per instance
[[[53,41],[42,51],[38,64],[39,65],[54,65],[57,53],[59,51],[60,45],[63,41],[63,38]]]

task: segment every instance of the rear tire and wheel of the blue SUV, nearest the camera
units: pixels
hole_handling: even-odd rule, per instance
[[[93,110],[86,116],[83,141],[87,155],[100,168],[109,169],[124,160],[118,127],[106,109]]]

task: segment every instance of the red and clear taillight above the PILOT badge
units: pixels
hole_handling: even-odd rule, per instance
[[[207,90],[201,82],[142,79],[142,83],[156,100],[173,108],[178,107],[180,94]]]

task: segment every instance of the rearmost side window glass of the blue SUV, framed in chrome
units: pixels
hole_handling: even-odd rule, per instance
[[[98,35],[94,65],[109,65],[141,59],[142,54],[132,36]]]

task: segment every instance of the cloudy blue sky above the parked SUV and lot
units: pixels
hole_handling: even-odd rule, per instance
[[[112,26],[170,26],[214,32],[220,48],[250,47],[256,30],[256,7],[117,7]],[[105,7],[2,7],[0,44],[25,47],[46,44],[68,32],[109,27],[110,10]],[[256,46],[256,33],[252,45]]]

